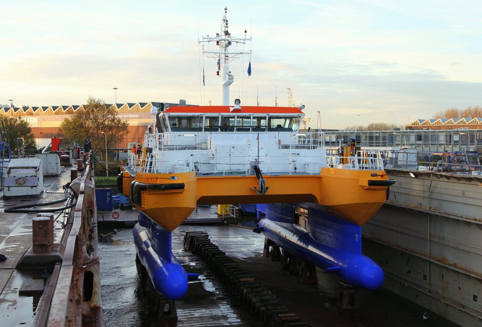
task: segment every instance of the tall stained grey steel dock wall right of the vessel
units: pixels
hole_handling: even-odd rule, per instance
[[[431,176],[432,175],[432,176]],[[479,178],[390,171],[390,199],[362,228],[384,286],[460,325],[482,320]]]

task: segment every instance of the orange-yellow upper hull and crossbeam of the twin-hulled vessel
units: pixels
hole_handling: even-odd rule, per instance
[[[362,225],[386,200],[387,187],[369,186],[369,180],[388,180],[383,171],[335,168],[323,168],[319,175],[264,178],[269,189],[259,195],[256,176],[137,173],[135,181],[142,188],[131,199],[137,199],[137,209],[168,231],[186,220],[197,205],[224,203],[315,202],[339,218]]]

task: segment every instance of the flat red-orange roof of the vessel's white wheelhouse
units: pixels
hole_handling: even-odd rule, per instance
[[[165,113],[246,113],[246,114],[300,114],[303,113],[296,107],[249,107],[229,110],[229,106],[175,106],[164,110]]]

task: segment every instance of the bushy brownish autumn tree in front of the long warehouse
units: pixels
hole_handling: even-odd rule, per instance
[[[107,108],[104,100],[89,97],[83,111],[77,111],[72,117],[64,119],[58,129],[67,142],[74,140],[82,147],[84,141],[90,137],[92,151],[105,153],[105,136],[107,147],[115,145],[129,133],[129,123],[117,116],[114,107]]]

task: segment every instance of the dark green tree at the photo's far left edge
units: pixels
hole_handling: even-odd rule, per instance
[[[37,148],[35,136],[32,134],[32,129],[27,121],[21,117],[9,117],[0,115],[0,120],[3,120],[5,131],[7,132],[8,143],[12,154],[17,154],[17,138],[24,139],[24,148],[26,150],[33,150]],[[2,135],[2,140],[7,141]]]

